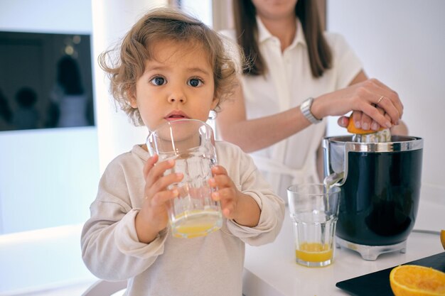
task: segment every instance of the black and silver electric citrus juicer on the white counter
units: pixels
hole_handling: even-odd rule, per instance
[[[324,183],[340,186],[336,246],[374,261],[404,253],[419,207],[423,139],[376,133],[323,139]]]

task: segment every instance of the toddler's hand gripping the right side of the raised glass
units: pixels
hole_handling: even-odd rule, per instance
[[[257,202],[249,195],[237,190],[222,166],[215,165],[212,168],[212,173],[213,178],[209,180],[209,185],[213,188],[218,187],[212,193],[212,198],[221,202],[223,215],[243,226],[257,226],[260,214]]]

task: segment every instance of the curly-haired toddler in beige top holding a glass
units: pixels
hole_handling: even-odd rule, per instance
[[[235,89],[236,70],[218,33],[173,9],[156,9],[127,33],[119,57],[102,53],[114,98],[134,124],[154,131],[176,119],[206,121]],[[112,160],[82,231],[82,258],[98,278],[128,280],[126,295],[242,295],[245,243],[274,241],[284,203],[237,146],[216,142],[209,181],[223,226],[181,239],[168,229],[167,208],[182,174],[174,161],[150,157],[145,145]],[[267,267],[264,267],[267,268]]]

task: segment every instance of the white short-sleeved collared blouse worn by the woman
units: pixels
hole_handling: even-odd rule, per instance
[[[347,87],[362,70],[360,60],[345,39],[335,33],[325,33],[332,50],[333,64],[322,77],[314,78],[303,28],[298,20],[294,41],[284,52],[279,39],[267,31],[258,17],[257,24],[259,50],[266,62],[267,73],[242,76],[247,119],[277,114],[299,106],[309,97]],[[235,31],[221,33],[236,40]],[[284,200],[287,199],[286,188],[291,184],[319,182],[316,150],[325,130],[326,119],[273,146],[251,153],[257,167]]]

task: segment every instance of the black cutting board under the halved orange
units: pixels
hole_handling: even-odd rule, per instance
[[[445,273],[445,252],[404,264],[432,267]],[[392,268],[395,268],[395,266]],[[394,296],[390,286],[390,272],[392,268],[376,271],[375,273],[369,273],[368,275],[362,275],[349,280],[343,280],[336,283],[336,286],[345,290],[348,294],[355,296]]]

